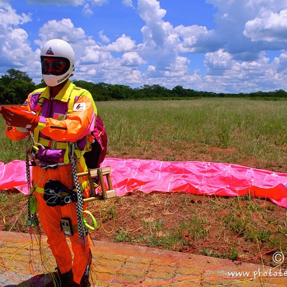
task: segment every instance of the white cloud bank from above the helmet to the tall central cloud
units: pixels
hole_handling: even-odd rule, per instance
[[[103,31],[99,35],[108,39]],[[76,56],[74,74],[77,80],[114,84],[124,81],[128,85],[127,81],[139,81],[141,73],[136,71],[137,65],[146,63],[137,53],[131,52],[135,41],[129,36],[123,34],[110,45],[100,46],[70,19],[48,21],[39,29],[39,36],[41,40],[36,41],[39,46],[51,38],[61,38],[71,44]],[[122,58],[113,57],[111,51],[123,53]]]

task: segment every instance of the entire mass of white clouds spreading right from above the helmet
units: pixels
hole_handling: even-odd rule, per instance
[[[97,6],[106,3],[86,2]],[[160,7],[159,1],[138,0],[136,11],[145,22],[138,44],[126,32],[107,45],[109,38],[103,31],[98,34],[102,43],[96,43],[67,19],[46,23],[40,36],[61,31],[53,32],[53,36],[69,37],[79,57],[77,79],[138,86],[159,84],[167,88],[181,85],[213,92],[254,92],[263,90],[262,86],[266,90],[280,89],[283,85],[287,88],[287,84],[282,84],[285,80],[280,83],[287,68],[286,52],[269,59],[262,51],[266,47],[284,49],[278,42],[287,38],[284,36],[287,2],[208,0],[208,3],[218,11],[214,16],[216,28],[212,30],[196,24],[174,27],[165,21],[167,11]],[[122,4],[132,3],[127,0]],[[86,8],[90,9],[88,5]],[[117,53],[118,58],[112,53]],[[198,70],[191,73],[194,66],[187,58],[189,53],[206,53],[206,70],[201,71],[202,75]]]

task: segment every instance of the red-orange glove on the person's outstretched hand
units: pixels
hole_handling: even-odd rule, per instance
[[[2,106],[0,114],[2,114],[8,125],[25,127],[29,128],[29,130],[34,130],[39,122],[39,116],[33,115],[25,109],[17,106]]]

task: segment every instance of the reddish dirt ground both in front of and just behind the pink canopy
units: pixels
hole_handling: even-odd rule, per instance
[[[125,153],[107,157],[160,161],[232,162],[247,167],[286,172],[286,164],[262,163],[242,158],[235,149],[192,148],[186,143],[160,145],[143,142]],[[3,193],[2,196],[5,196]],[[20,198],[19,198],[20,196]],[[7,209],[7,204],[15,206]],[[28,232],[26,197],[16,193],[2,198],[1,230]],[[149,246],[179,252],[228,258],[275,266],[272,255],[287,255],[286,209],[264,199],[197,196],[179,192],[133,192],[107,201],[94,201],[88,208],[98,229],[92,239]],[[22,212],[22,213],[21,213]],[[287,257],[287,256],[286,256]],[[282,268],[287,268],[287,260]]]

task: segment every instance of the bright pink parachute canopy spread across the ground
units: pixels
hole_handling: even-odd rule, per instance
[[[118,196],[140,190],[180,191],[192,194],[268,198],[287,208],[287,174],[240,165],[209,162],[163,162],[106,158],[101,166],[112,169]],[[0,165],[0,189],[17,188],[28,193],[24,161]]]

